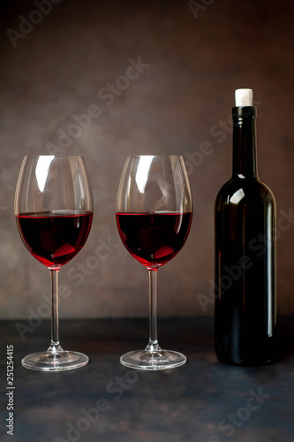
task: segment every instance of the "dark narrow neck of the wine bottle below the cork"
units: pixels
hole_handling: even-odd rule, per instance
[[[233,177],[257,178],[256,108],[234,107],[233,114]]]

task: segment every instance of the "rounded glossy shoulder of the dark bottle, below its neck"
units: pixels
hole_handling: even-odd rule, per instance
[[[245,205],[253,202],[275,205],[275,196],[270,188],[260,179],[237,179],[227,181],[220,189],[215,200],[217,210],[223,204]]]

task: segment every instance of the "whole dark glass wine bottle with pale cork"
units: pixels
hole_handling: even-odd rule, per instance
[[[275,197],[257,173],[252,89],[237,89],[233,173],[215,202],[215,354],[234,365],[275,361]]]

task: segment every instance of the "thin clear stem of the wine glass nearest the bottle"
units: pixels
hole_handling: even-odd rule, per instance
[[[149,343],[146,350],[161,350],[157,340],[157,269],[148,269],[149,273]]]

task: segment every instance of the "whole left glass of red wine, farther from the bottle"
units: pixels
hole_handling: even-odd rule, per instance
[[[58,273],[84,246],[91,229],[93,197],[82,156],[25,156],[19,171],[14,213],[28,251],[51,274],[51,344],[47,351],[27,355],[26,369],[78,369],[86,354],[65,351],[58,332]]]

